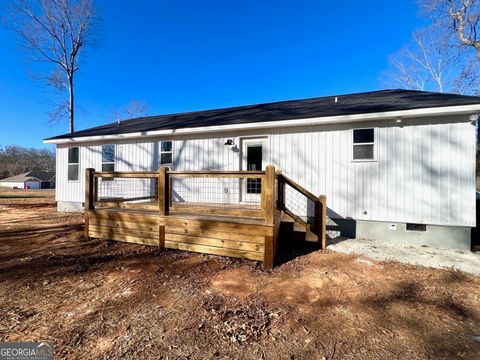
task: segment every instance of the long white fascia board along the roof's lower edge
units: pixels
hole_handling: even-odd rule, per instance
[[[295,120],[277,120],[266,122],[254,122],[245,124],[234,125],[218,125],[218,126],[202,126],[194,128],[181,128],[181,129],[165,129],[154,131],[143,131],[135,133],[114,134],[114,135],[99,135],[99,136],[84,136],[84,137],[72,137],[66,139],[51,139],[44,140],[44,144],[68,144],[68,143],[81,143],[92,142],[102,140],[124,140],[135,138],[149,138],[161,135],[188,135],[188,134],[202,134],[202,133],[216,133],[232,130],[251,130],[251,129],[271,129],[278,127],[291,127],[291,126],[308,126],[308,125],[325,125],[332,123],[349,123],[368,120],[388,120],[395,118],[411,118],[418,116],[436,116],[436,115],[459,115],[468,114],[480,111],[480,104],[476,105],[457,105],[457,106],[442,106],[434,108],[421,108],[413,110],[397,110],[397,111],[385,111],[368,114],[352,114],[352,115],[336,115],[336,116],[324,116],[315,118],[295,119]]]

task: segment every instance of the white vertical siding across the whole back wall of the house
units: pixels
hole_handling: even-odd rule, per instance
[[[376,161],[353,162],[352,128],[366,127],[375,128]],[[174,137],[169,167],[238,170],[239,149],[225,140],[253,135],[268,136],[269,163],[327,196],[333,218],[475,226],[475,127],[467,115]],[[170,139],[118,143],[116,170],[157,171],[161,140]],[[80,181],[68,183],[68,145],[57,147],[57,201],[84,201],[85,168],[101,169],[101,148],[80,146]]]

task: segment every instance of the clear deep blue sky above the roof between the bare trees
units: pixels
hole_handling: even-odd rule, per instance
[[[130,100],[149,114],[385,88],[388,55],[421,25],[415,1],[98,1],[99,47],[76,79],[76,129]],[[0,28],[0,145],[45,147],[51,94]]]

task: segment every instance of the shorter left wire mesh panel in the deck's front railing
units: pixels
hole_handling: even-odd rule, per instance
[[[158,199],[158,178],[98,177],[96,201],[128,204],[154,203]]]

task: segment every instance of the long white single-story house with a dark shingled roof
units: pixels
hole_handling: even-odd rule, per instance
[[[60,211],[82,209],[86,168],[273,164],[325,194],[344,235],[469,249],[479,112],[479,97],[384,90],[149,116],[45,143],[57,145]]]

